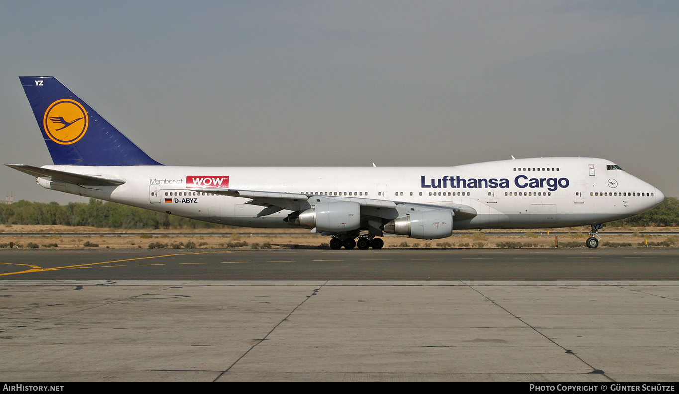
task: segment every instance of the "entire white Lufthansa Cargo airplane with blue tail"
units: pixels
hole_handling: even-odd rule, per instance
[[[55,77],[20,77],[54,165],[6,164],[42,187],[201,221],[297,226],[332,249],[380,249],[384,233],[591,225],[660,204],[660,190],[598,158],[528,158],[449,167],[165,166]],[[336,174],[351,177],[336,177]]]

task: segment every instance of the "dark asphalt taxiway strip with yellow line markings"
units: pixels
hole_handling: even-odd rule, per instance
[[[678,280],[679,249],[3,249],[0,279]]]

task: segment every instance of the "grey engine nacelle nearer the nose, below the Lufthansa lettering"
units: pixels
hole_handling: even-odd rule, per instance
[[[453,213],[450,211],[411,213],[386,223],[384,232],[420,239],[447,238],[453,234]]]

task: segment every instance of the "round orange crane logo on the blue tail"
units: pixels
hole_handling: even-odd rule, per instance
[[[45,111],[43,126],[52,141],[61,145],[71,145],[81,139],[87,131],[87,111],[73,100],[55,101]]]

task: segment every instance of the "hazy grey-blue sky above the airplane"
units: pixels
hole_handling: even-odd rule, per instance
[[[164,164],[593,156],[679,196],[679,1],[0,0],[0,37],[3,163],[52,164],[18,76],[54,75]]]

